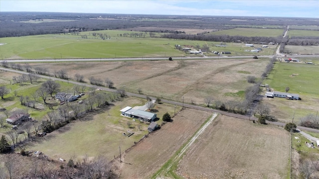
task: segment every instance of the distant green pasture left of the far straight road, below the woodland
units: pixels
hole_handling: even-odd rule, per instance
[[[240,35],[247,37],[277,37],[283,34],[283,29],[265,29],[265,28],[233,28],[228,30],[219,30],[210,32],[209,35]],[[207,34],[208,35],[208,34]]]

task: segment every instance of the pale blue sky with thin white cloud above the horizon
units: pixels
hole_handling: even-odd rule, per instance
[[[319,0],[0,0],[0,12],[319,18]]]

